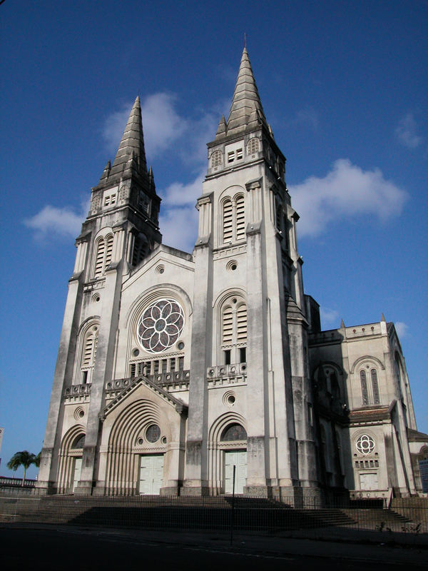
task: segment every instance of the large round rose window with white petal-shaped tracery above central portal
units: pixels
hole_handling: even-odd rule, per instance
[[[184,312],[173,299],[161,299],[149,305],[138,320],[137,337],[148,353],[161,353],[180,337]]]

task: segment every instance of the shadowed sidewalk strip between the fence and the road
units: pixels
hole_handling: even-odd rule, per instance
[[[230,535],[225,532],[170,532],[109,527],[78,527],[71,525],[32,525],[24,523],[0,524],[1,529],[56,530],[64,535],[88,535],[133,542],[143,545],[179,545],[181,548],[200,550],[254,553],[263,555],[306,555],[361,562],[394,563],[428,567],[428,536],[415,535],[409,544],[407,534],[388,532],[354,532],[353,530],[318,530],[317,539],[307,537],[308,530],[287,532],[287,537],[236,533],[230,545]],[[310,530],[316,532],[316,530]],[[305,535],[305,537],[302,537]]]

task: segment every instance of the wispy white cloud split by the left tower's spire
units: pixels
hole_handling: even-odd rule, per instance
[[[141,103],[144,143],[151,158],[168,148],[188,128],[188,121],[175,111],[175,100],[173,94],[158,93],[147,96]],[[117,151],[132,106],[133,103],[126,103],[104,123],[103,138],[111,153]]]

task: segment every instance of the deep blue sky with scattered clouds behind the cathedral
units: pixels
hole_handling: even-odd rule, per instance
[[[324,328],[398,324],[428,432],[427,24],[422,0],[1,4],[2,475],[41,449],[74,238],[133,100],[163,241],[191,251],[244,33],[287,156],[306,293]]]

